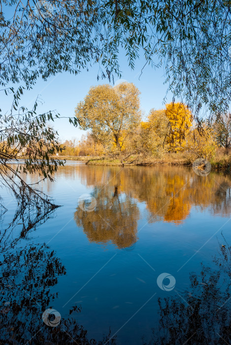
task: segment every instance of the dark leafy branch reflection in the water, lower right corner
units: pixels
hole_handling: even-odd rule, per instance
[[[159,327],[144,345],[231,344],[231,246],[219,246],[215,269],[201,263],[181,297],[159,298]]]

